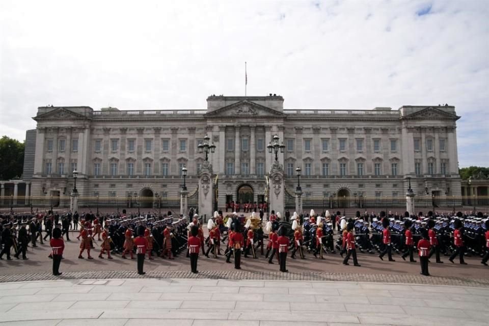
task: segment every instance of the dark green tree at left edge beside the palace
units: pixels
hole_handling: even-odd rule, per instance
[[[0,139],[0,180],[20,178],[24,167],[24,143],[3,136]]]

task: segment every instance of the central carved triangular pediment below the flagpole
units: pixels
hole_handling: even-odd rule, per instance
[[[239,101],[218,110],[206,113],[204,117],[285,117],[282,112],[273,110],[267,106],[257,104],[248,100]]]

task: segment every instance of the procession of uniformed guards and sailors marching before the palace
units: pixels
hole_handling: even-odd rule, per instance
[[[259,259],[259,253],[265,248],[268,264],[279,264],[279,270],[286,273],[286,259],[324,259],[325,254],[339,252],[342,263],[361,267],[360,253],[375,254],[384,260],[395,261],[398,254],[403,260],[417,262],[419,257],[422,275],[429,276],[428,263],[434,255],[434,263],[442,264],[442,255],[448,261],[467,264],[466,256],[481,257],[480,263],[487,266],[489,259],[489,219],[487,214],[477,212],[471,215],[457,212],[453,216],[434,214],[426,216],[419,212],[417,216],[406,212],[401,218],[385,211],[376,214],[341,216],[339,211],[331,214],[325,211],[316,214],[293,213],[290,219],[283,219],[280,212],[271,211],[267,220],[262,220],[254,211],[248,216],[236,212],[223,215],[215,211],[207,221],[208,234],[204,235],[204,221],[198,214],[189,221],[187,216],[166,215],[145,216],[121,214],[82,213],[79,220],[74,215],[58,215],[47,211],[45,214],[3,215],[1,217],[2,252],[0,259],[11,260],[11,253],[17,259],[29,259],[28,247],[37,247],[49,238],[52,248],[53,275],[62,275],[60,263],[63,258],[65,242],[69,239],[69,229],[77,231],[79,241],[79,259],[113,259],[121,255],[123,259],[137,259],[140,275],[144,275],[144,260],[153,257],[174,259],[182,252],[186,253],[193,273],[199,273],[197,263],[199,254],[206,259],[218,259],[224,255],[227,263],[241,269],[241,255],[245,259]],[[61,220],[61,221],[60,221]],[[335,234],[336,230],[336,234]],[[43,232],[44,235],[43,235]],[[206,249],[207,248],[207,249]],[[224,250],[222,250],[224,248]],[[87,256],[84,256],[85,251]],[[211,256],[209,256],[209,254]],[[307,257],[307,254],[311,254]],[[346,254],[346,256],[344,256]],[[314,258],[313,258],[314,257]],[[361,257],[360,257],[361,260]]]

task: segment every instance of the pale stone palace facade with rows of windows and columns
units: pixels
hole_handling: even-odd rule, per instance
[[[197,146],[208,135],[216,146],[209,161],[219,207],[259,202],[275,160],[266,146],[275,134],[285,146],[278,160],[291,194],[300,167],[305,198],[403,196],[408,178],[416,194],[427,188],[436,196],[461,195],[453,106],[284,110],[283,102],[275,95],[210,96],[207,110],[39,107],[31,195],[69,194],[74,169],[82,196],[177,197],[182,167],[193,192],[205,158]]]

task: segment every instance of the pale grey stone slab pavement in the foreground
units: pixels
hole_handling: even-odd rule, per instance
[[[210,279],[0,284],[0,325],[487,325],[489,290]]]

